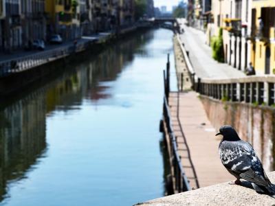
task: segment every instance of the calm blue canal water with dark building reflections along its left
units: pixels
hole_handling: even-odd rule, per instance
[[[0,205],[123,206],[164,196],[159,119],[172,37],[137,34],[1,102]]]

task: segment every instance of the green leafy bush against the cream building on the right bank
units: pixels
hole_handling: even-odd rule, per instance
[[[218,62],[224,62],[223,54],[223,30],[219,29],[219,36],[212,36],[211,38],[212,57]]]

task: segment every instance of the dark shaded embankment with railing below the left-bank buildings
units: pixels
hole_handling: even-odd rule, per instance
[[[69,63],[85,60],[85,56],[96,55],[111,43],[133,32],[147,30],[150,27],[149,23],[138,23],[117,32],[83,36],[77,41],[50,46],[42,52],[2,55],[0,58],[0,96],[12,95],[44,76],[57,73],[58,68],[63,70]]]

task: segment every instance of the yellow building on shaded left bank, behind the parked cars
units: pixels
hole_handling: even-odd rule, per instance
[[[48,34],[61,34],[63,40],[80,37],[79,0],[46,0]]]

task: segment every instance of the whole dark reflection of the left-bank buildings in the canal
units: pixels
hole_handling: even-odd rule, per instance
[[[0,201],[8,197],[9,183],[28,178],[28,171],[47,157],[46,117],[54,111],[78,109],[83,100],[98,102],[111,97],[110,86],[122,69],[142,54],[141,47],[153,32],[134,36],[104,50],[98,56],[69,66],[56,79],[34,87],[22,98],[2,102],[0,111]],[[8,105],[7,105],[8,104]]]

